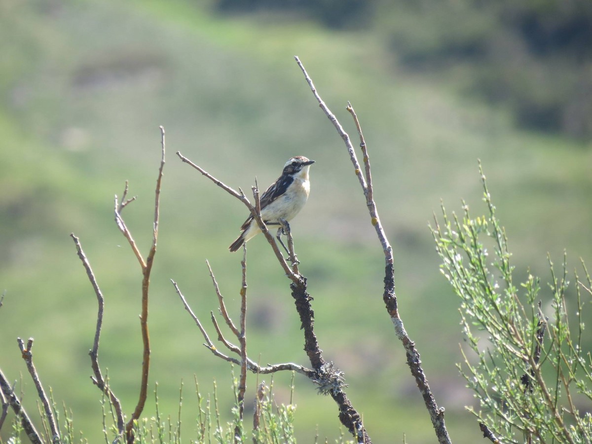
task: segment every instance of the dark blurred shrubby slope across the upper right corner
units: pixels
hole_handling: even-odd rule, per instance
[[[218,11],[303,14],[370,30],[409,72],[503,105],[516,124],[592,137],[592,3],[528,0],[213,0]]]

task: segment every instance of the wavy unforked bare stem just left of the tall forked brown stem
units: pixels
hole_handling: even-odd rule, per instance
[[[105,310],[105,298],[101,292],[101,288],[99,288],[98,283],[96,282],[95,274],[92,272],[91,263],[86,258],[84,251],[82,250],[82,246],[78,237],[74,236],[74,233],[70,233],[70,237],[74,240],[74,244],[76,245],[76,252],[78,252],[78,257],[82,261],[82,265],[86,270],[86,275],[88,275],[89,281],[91,281],[92,288],[95,290],[96,301],[98,302],[98,311],[96,313],[96,329],[95,329],[95,340],[92,344],[92,349],[89,350],[88,354],[91,356],[91,367],[95,377],[91,377],[93,384],[99,388],[104,394],[106,394],[115,409],[115,416],[117,419],[117,431],[119,435],[123,435],[124,432],[124,419],[123,419],[123,412],[121,411],[121,403],[117,396],[115,396],[114,392],[109,388],[107,382],[103,378],[101,373],[101,367],[99,366],[99,341],[101,340],[101,328],[103,324],[103,313]]]

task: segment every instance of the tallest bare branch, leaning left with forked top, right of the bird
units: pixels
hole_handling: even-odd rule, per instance
[[[372,197],[372,176],[370,174],[370,160],[368,156],[368,148],[366,146],[365,140],[363,139],[362,130],[359,125],[358,117],[356,116],[352,106],[348,102],[348,108],[346,109],[350,112],[350,114],[352,114],[353,120],[356,124],[356,128],[358,129],[358,134],[360,137],[360,146],[362,147],[363,162],[365,165],[365,175],[362,174],[360,164],[356,157],[356,153],[353,149],[353,145],[348,133],[346,133],[345,130],[343,130],[343,127],[341,126],[337,118],[329,110],[325,102],[323,102],[323,99],[321,99],[320,95],[317,92],[317,89],[314,86],[312,79],[310,78],[310,76],[308,76],[308,73],[304,69],[303,64],[300,62],[300,59],[298,59],[298,57],[294,58],[298,63],[298,66],[300,66],[300,69],[302,70],[304,77],[308,82],[311,91],[313,92],[314,97],[317,99],[319,107],[321,108],[321,110],[323,110],[327,118],[329,118],[329,120],[337,130],[337,133],[343,139],[346,149],[348,150],[350,160],[352,161],[356,176],[358,177],[358,181],[360,182],[362,191],[366,197],[366,206],[368,207],[368,211],[371,216],[372,226],[374,226],[375,230],[377,231],[377,235],[381,242],[382,250],[385,255],[385,278],[384,293],[382,296],[382,300],[384,301],[387,308],[387,312],[391,317],[392,323],[394,324],[395,333],[397,334],[397,337],[401,340],[401,343],[403,343],[403,346],[406,350],[407,363],[411,369],[411,374],[416,379],[417,387],[419,387],[419,390],[422,393],[424,403],[426,404],[426,408],[430,414],[430,419],[432,419],[432,424],[435,429],[437,439],[439,440],[440,444],[450,443],[451,440],[448,436],[448,430],[446,430],[446,426],[444,423],[444,409],[439,408],[436,404],[436,400],[433,397],[432,391],[430,390],[430,387],[427,383],[427,378],[421,366],[419,352],[417,352],[414,342],[409,338],[407,332],[405,331],[403,321],[401,320],[398,313],[397,297],[395,295],[392,248],[390,246],[390,243],[388,242],[384,230],[382,229],[380,218],[378,217],[377,206],[374,202],[374,198]]]

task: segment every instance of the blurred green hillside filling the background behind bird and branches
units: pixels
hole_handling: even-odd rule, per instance
[[[54,400],[73,410],[90,442],[102,439],[88,357],[96,299],[73,232],[106,299],[100,362],[129,414],[140,378],[141,275],[112,202],[128,179],[138,198],[124,216],[146,254],[163,125],[168,153],[149,318],[150,388],[159,383],[161,413],[175,417],[183,382],[183,436],[195,436],[196,375],[202,394],[217,380],[220,411],[230,418],[230,368],[202,346],[169,279],[210,328],[217,307],[210,260],[237,316],[242,255],[227,246],[247,215],[175,152],[246,192],[255,176],[264,189],[285,160],[304,155],[317,163],[292,229],[321,348],[345,372],[374,442],[401,442],[404,434],[407,442],[434,442],[382,304],[384,257],[358,181],[298,55],[353,140],[348,100],[359,116],[394,247],[401,316],[453,442],[478,442],[464,410],[472,397],[455,367],[459,301],[440,275],[427,223],[440,199],[448,210],[461,210],[464,198],[474,215],[485,213],[481,159],[517,282],[528,272],[548,279],[547,252],[559,263],[567,249],[570,269],[580,257],[590,263],[592,4],[277,3],[0,2],[0,367],[11,379],[24,374],[24,403],[34,413],[16,342],[34,337],[34,360]],[[287,279],[263,239],[249,242],[247,260],[250,356],[307,364]],[[279,402],[288,401],[288,381],[274,380]],[[253,398],[256,378],[248,384]],[[295,384],[298,439],[333,442],[340,433],[333,401],[304,378]],[[144,413],[153,412],[149,402]]]

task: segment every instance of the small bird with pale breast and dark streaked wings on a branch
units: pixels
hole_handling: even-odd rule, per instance
[[[304,207],[310,191],[308,182],[308,168],[314,160],[308,160],[304,156],[295,156],[286,162],[282,175],[265,190],[261,196],[261,218],[266,225],[279,225],[278,240],[281,233],[281,221],[291,221]],[[250,215],[242,227],[242,233],[228,248],[230,251],[238,250],[243,243],[251,239],[261,230],[257,222]],[[282,246],[284,244],[282,243]],[[284,246],[285,248],[285,246]]]

